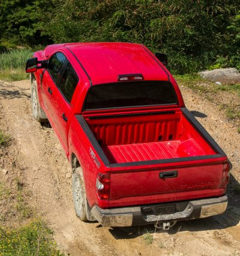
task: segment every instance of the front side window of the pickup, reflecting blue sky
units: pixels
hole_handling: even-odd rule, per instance
[[[56,52],[52,58],[50,58],[47,69],[49,70],[50,75],[52,76],[53,81],[56,83],[58,81],[60,71],[62,66],[64,66],[67,58],[61,52]]]

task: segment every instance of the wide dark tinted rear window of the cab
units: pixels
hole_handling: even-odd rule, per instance
[[[175,90],[170,82],[118,82],[91,87],[83,110],[175,105],[177,101]]]

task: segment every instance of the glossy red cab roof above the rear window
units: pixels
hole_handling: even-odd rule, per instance
[[[135,43],[70,43],[46,47],[52,52],[67,49],[87,73],[91,84],[118,82],[119,75],[142,74],[144,80],[169,81],[169,72],[142,44]]]

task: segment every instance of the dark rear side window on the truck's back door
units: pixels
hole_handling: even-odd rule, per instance
[[[59,88],[68,102],[71,102],[71,98],[73,97],[73,93],[78,82],[79,78],[77,77],[77,74],[73,69],[73,66],[71,66],[70,63],[68,63],[64,71],[64,75],[62,75],[62,79],[59,84]]]

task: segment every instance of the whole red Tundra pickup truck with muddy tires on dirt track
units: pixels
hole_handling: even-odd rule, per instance
[[[161,56],[142,44],[68,43],[26,63],[33,116],[49,120],[64,148],[82,221],[167,230],[226,210],[227,156]]]

